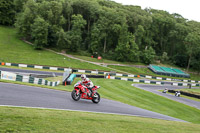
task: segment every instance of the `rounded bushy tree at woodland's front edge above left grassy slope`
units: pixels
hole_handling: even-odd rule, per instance
[[[35,49],[41,49],[47,45],[48,23],[41,17],[37,17],[31,26],[31,36],[34,39]]]

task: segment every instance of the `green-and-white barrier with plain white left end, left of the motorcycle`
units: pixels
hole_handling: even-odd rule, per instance
[[[39,84],[39,85],[47,85],[47,86],[57,86],[60,83],[60,81],[51,82],[51,81],[41,79],[41,78],[22,76],[22,75],[17,75],[15,73],[10,73],[6,71],[0,71],[0,79]]]

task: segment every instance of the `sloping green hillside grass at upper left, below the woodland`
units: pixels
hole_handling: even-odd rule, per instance
[[[46,50],[34,50],[32,45],[19,40],[16,29],[4,26],[0,26],[0,50],[0,62],[110,71],[109,68],[80,62]]]

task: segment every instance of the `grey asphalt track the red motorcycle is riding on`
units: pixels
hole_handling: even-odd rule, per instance
[[[101,99],[99,104],[90,100],[74,101],[70,92],[0,82],[0,106],[40,107],[61,110],[131,115],[170,121],[186,122],[121,102]]]

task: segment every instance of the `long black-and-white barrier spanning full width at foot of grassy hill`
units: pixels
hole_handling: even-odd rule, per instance
[[[0,62],[2,64],[2,62]],[[69,69],[69,68],[61,68],[61,67],[49,67],[49,66],[39,66],[39,65],[27,65],[27,64],[16,64],[16,63],[4,63],[6,66],[16,66],[16,67],[29,67],[29,68],[37,68],[37,69],[49,69],[49,70],[59,70],[59,71],[66,71],[69,70],[70,72],[79,72],[79,73],[91,73],[91,74],[102,74],[102,75],[110,75],[110,76],[122,76],[122,77],[143,77],[148,79],[157,79],[157,80],[167,80],[167,81],[177,81],[177,82],[191,82],[191,83],[200,83],[200,81],[195,80],[183,80],[183,79],[172,79],[172,78],[163,78],[163,77],[155,77],[155,76],[148,76],[148,75],[133,75],[133,74],[121,74],[121,73],[110,73],[110,72],[103,72],[103,71],[91,71],[91,70],[81,70],[81,69]]]

